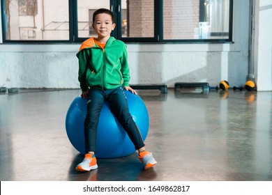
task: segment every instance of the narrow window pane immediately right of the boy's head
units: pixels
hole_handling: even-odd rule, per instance
[[[122,37],[154,37],[154,0],[121,1]]]

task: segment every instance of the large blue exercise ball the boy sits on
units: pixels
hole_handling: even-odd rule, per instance
[[[149,130],[149,115],[139,95],[124,91],[128,100],[128,109],[145,140]],[[73,100],[66,114],[66,133],[70,143],[80,153],[85,154],[84,120],[86,116],[85,98],[80,95]],[[98,121],[96,152],[98,158],[123,157],[135,153],[135,146],[128,134],[109,110],[108,102],[103,104]]]

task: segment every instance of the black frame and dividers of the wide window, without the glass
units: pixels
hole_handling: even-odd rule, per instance
[[[1,0],[1,22],[2,22],[2,40],[3,43],[69,43],[78,44],[86,40],[86,38],[78,37],[77,26],[77,0],[68,0],[69,9],[69,40],[6,40],[6,18],[4,14],[4,1]],[[114,13],[116,28],[112,32],[112,36],[126,43],[231,43],[233,31],[233,0],[229,0],[229,38],[227,39],[163,39],[163,0],[154,1],[154,36],[149,38],[123,38],[121,37],[121,0],[109,0],[109,7]]]

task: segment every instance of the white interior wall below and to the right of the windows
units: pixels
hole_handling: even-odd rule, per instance
[[[234,0],[232,44],[128,44],[131,84],[222,79],[243,86],[248,75],[248,0]],[[80,45],[1,45],[0,86],[78,88]]]

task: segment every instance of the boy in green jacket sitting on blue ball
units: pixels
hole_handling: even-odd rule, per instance
[[[126,45],[110,36],[116,25],[110,10],[104,8],[96,10],[93,13],[92,25],[98,37],[85,40],[80,52],[77,53],[82,98],[87,98],[88,101],[84,121],[86,155],[77,165],[76,170],[90,171],[98,168],[94,155],[96,132],[100,111],[106,100],[112,113],[133,141],[135,149],[138,150],[144,169],[149,169],[157,162],[144,148],[142,136],[128,111],[126,95],[123,93],[123,90],[126,90],[137,94],[128,85],[130,72]]]

